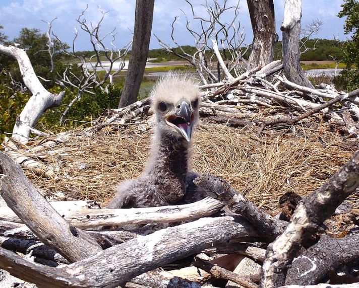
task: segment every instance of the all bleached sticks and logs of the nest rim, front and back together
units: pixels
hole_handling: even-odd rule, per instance
[[[313,116],[329,121],[345,137],[357,137],[359,91],[298,86],[281,76],[281,69],[275,61],[235,79],[228,74],[226,82],[201,86],[201,117],[257,129],[260,135],[267,127],[306,125]],[[127,125],[152,114],[146,98],[106,111],[82,133],[99,133],[103,127]],[[66,133],[58,138],[64,140]],[[195,179],[209,197],[184,205],[101,209],[86,201],[48,202],[18,164],[35,170],[40,165],[22,149],[26,147],[8,141],[0,154],[0,268],[25,281],[46,287],[279,287],[320,282],[350,287],[355,284],[348,283],[359,282],[359,213],[341,205],[359,186],[359,152],[307,197],[285,194],[280,198],[282,212],[272,215],[212,175]],[[46,169],[51,177],[53,171]]]

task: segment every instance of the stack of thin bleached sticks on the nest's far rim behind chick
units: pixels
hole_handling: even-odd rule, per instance
[[[223,63],[222,66],[225,69]],[[226,81],[202,85],[200,116],[208,122],[233,127],[257,127],[261,134],[266,127],[283,127],[315,115],[329,121],[332,128],[357,137],[359,125],[359,90],[338,92],[333,86],[321,84],[312,89],[288,81],[281,75],[280,60],[253,68],[237,78],[226,74]],[[150,99],[119,109],[106,111],[89,130],[99,131],[110,124],[126,124],[150,116]]]

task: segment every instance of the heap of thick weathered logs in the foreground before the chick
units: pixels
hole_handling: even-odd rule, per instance
[[[100,209],[86,201],[49,203],[4,153],[0,167],[8,204],[0,209],[0,268],[39,286],[359,282],[359,211],[340,205],[359,186],[359,152],[306,198],[281,197],[276,217],[211,175],[195,179],[210,196],[198,202]]]

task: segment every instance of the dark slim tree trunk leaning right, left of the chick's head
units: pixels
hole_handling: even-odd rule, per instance
[[[154,0],[137,0],[129,69],[118,108],[137,101],[150,45]]]

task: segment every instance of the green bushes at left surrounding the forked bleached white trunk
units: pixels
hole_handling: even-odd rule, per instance
[[[2,26],[0,26],[0,29],[2,29]],[[64,88],[55,84],[53,80],[56,79],[57,73],[62,75],[64,70],[69,67],[65,63],[68,58],[62,53],[56,53],[54,57],[55,70],[51,72],[45,34],[40,33],[37,29],[23,28],[19,37],[8,42],[7,37],[0,32],[0,43],[5,45],[17,43],[19,47],[24,48],[33,63],[35,73],[50,80],[49,82],[42,82],[44,87],[51,93],[59,93],[64,90]],[[60,49],[61,47],[56,46],[56,48]],[[62,48],[66,48],[66,46]],[[70,67],[74,75],[79,75],[80,68],[76,63],[70,65]],[[12,78],[10,78],[10,75]],[[19,83],[20,85],[16,86],[14,83]],[[59,124],[61,113],[65,111],[66,104],[69,104],[78,93],[75,89],[67,88],[65,89],[63,105],[48,109],[40,118],[37,127],[58,132],[65,128],[82,124],[82,122],[77,121],[90,121],[107,108],[117,108],[122,88],[123,84],[115,83],[108,87],[107,92],[103,92],[98,88],[94,90],[95,95],[83,93],[81,100],[77,101],[66,115],[67,119],[72,120],[66,120],[64,125],[61,126]],[[0,142],[4,139],[5,132],[11,133],[16,116],[20,114],[30,96],[23,84],[17,61],[5,55],[0,55]]]

